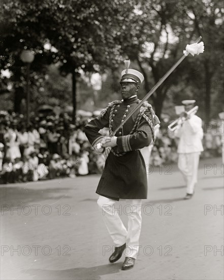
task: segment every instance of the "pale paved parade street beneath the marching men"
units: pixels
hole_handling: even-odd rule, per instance
[[[1,186],[1,279],[223,279],[223,164],[200,161],[192,199],[177,165],[149,168],[139,256],[111,264],[99,175]],[[106,210],[105,210],[106,211]],[[115,208],[126,225],[132,209]]]

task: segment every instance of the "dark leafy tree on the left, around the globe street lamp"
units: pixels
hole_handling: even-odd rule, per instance
[[[39,74],[46,65],[60,62],[61,74],[72,74],[75,119],[79,71],[95,72],[116,66],[119,52],[105,46],[113,44],[116,26],[123,20],[118,8],[118,1],[112,7],[98,0],[5,1],[1,13],[0,49],[5,53],[1,69],[13,73],[15,85],[22,80],[19,53],[23,48],[37,53],[32,67],[38,68]]]

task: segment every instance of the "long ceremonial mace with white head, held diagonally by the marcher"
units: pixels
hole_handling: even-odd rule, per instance
[[[123,120],[123,122],[114,130],[113,134],[110,136],[114,136],[117,131],[132,117],[133,114],[142,106],[142,104],[157,90],[159,86],[162,85],[162,83],[169,77],[169,75],[177,68],[177,66],[187,57],[187,55],[190,53],[191,55],[199,54],[204,52],[204,43],[199,41],[202,39],[200,36],[195,43],[186,45],[186,49],[183,51],[183,56],[171,67],[171,69],[156,83],[156,85],[146,94],[145,97],[141,100],[141,102],[138,103],[138,105],[132,110],[132,112],[127,115],[127,117]],[[199,44],[198,44],[199,43]],[[97,149],[101,150],[102,145],[101,143],[97,144]]]

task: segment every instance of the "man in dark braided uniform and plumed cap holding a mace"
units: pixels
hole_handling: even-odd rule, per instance
[[[115,244],[115,251],[109,261],[116,262],[124,251],[123,270],[130,269],[135,264],[141,232],[142,199],[147,199],[146,166],[140,149],[151,143],[154,126],[159,124],[151,105],[144,102],[122,128],[113,134],[140,102],[137,93],[144,80],[140,72],[129,69],[129,64],[125,65],[126,70],[122,71],[120,81],[123,99],[109,103],[99,117],[85,126],[86,136],[93,148],[99,144],[106,150],[109,147],[96,192],[100,195],[98,205],[103,210],[103,219]],[[104,127],[109,128],[109,137],[99,133]],[[125,200],[132,209],[128,215],[127,229],[117,211],[114,211],[115,202],[119,200]]]

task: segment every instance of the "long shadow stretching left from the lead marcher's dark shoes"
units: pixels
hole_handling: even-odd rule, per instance
[[[66,270],[28,269],[29,279],[91,279],[100,280],[102,275],[119,272],[122,263],[106,264],[93,267],[77,267]]]

